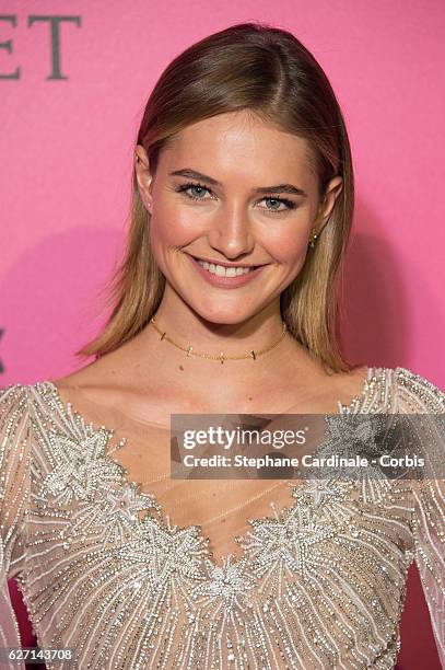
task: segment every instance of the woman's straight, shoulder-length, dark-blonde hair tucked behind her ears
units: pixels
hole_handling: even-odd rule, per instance
[[[179,54],[162,72],[143,113],[137,143],[154,175],[161,151],[188,125],[248,109],[308,141],[319,196],[342,177],[327,224],[280,307],[289,333],[335,372],[352,366],[340,351],[338,290],[354,207],[353,168],[340,106],[321,67],[290,32],[242,23],[214,33]],[[98,358],[131,339],[157,310],[165,277],[150,244],[150,212],[133,168],[125,257],[105,286],[110,315],[102,332],[77,356]]]

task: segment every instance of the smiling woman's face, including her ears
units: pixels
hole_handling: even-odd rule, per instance
[[[341,188],[336,177],[320,203],[306,140],[248,112],[188,126],[163,149],[154,176],[141,146],[137,153],[166,290],[169,285],[214,323],[244,321],[280,296],[298,275],[311,231],[320,231]],[[197,258],[212,265],[202,267]],[[233,266],[249,269],[236,275]]]

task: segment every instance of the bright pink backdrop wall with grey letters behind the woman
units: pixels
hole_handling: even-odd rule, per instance
[[[356,211],[347,353],[445,386],[442,0],[0,0],[0,385],[80,367],[72,353],[104,319],[97,291],[121,252],[152,85],[192,42],[260,20],[313,51],[348,124]],[[36,16],[63,18],[58,49],[56,21]],[[417,579],[412,571],[405,669],[418,667],[415,654],[436,662],[429,628],[423,642],[407,634],[424,604]]]

